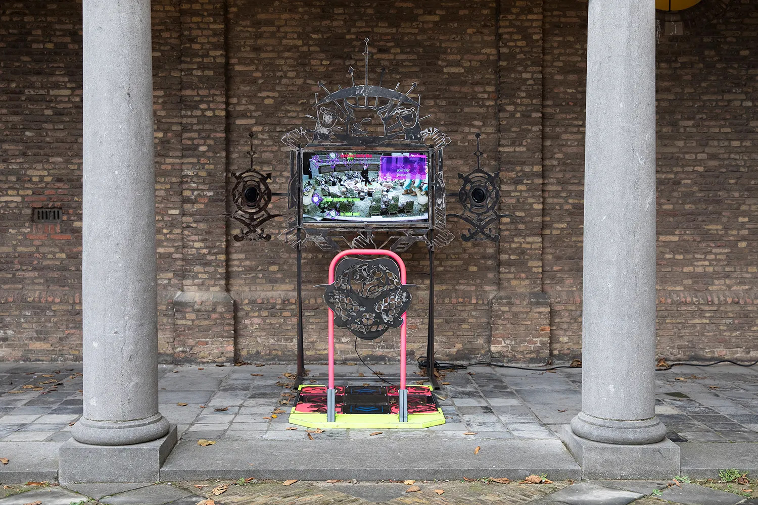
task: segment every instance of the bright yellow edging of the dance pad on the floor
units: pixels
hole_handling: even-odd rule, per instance
[[[316,384],[300,385],[315,386]],[[323,385],[322,385],[323,387]],[[434,389],[431,386],[424,388]],[[419,429],[431,428],[445,424],[445,414],[437,407],[437,412],[424,414],[408,414],[408,422],[400,422],[399,414],[336,414],[334,422],[327,422],[325,413],[295,412],[290,410],[290,424],[306,428],[340,428],[340,429]]]

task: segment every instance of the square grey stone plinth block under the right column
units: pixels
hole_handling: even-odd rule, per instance
[[[670,479],[679,475],[679,446],[665,438],[655,444],[604,444],[581,438],[563,425],[560,438],[581,466],[581,478]]]

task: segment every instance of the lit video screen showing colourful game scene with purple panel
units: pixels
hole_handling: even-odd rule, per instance
[[[305,152],[305,222],[429,220],[428,158],[419,152]]]

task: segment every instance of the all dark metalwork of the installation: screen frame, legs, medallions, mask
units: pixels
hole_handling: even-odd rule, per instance
[[[462,235],[466,242],[474,240],[497,241],[500,238],[494,229],[500,218],[509,214],[499,214],[500,201],[499,173],[487,173],[481,169],[479,148],[480,133],[476,134],[477,167],[468,174],[459,173],[462,187],[458,193],[448,194],[443,176],[443,149],[450,139],[433,126],[422,127],[421,122],[429,116],[421,115],[421,95],[415,92],[418,83],[412,83],[406,92],[382,86],[385,69],[381,69],[377,85],[368,80],[368,39],[365,39],[365,76],[362,84],[356,84],[356,70],[349,68],[351,86],[331,91],[324,83],[318,87],[323,94],[315,94],[315,115],[308,115],[313,124],[309,128],[299,126],[287,132],[281,141],[290,148],[290,182],[287,191],[287,229],[280,235],[288,245],[297,251],[297,303],[298,303],[298,345],[297,372],[302,379],[305,372],[304,338],[302,323],[302,249],[309,244],[317,245],[321,251],[340,252],[346,249],[375,249],[393,252],[407,251],[416,242],[422,242],[428,250],[429,260],[429,306],[428,306],[428,363],[434,363],[434,251],[453,241],[454,235],[446,227],[446,199],[458,196],[462,206],[460,214],[449,214],[464,220],[471,228],[468,235]],[[252,138],[252,133],[251,133]],[[313,189],[304,188],[304,174],[312,170],[314,157],[334,157],[334,151],[359,153],[363,157],[377,157],[388,151],[397,153],[417,153],[424,156],[427,165],[423,195],[428,219],[423,220],[305,220],[304,207],[318,204],[318,195],[311,198]],[[254,153],[250,151],[251,157]],[[355,154],[346,154],[354,156]],[[319,158],[320,159],[320,158]],[[307,161],[307,163],[306,163]],[[320,163],[320,161],[319,161]],[[328,163],[328,161],[327,161]],[[331,172],[337,162],[333,162]],[[318,165],[317,170],[321,170]],[[355,178],[356,173],[351,173]],[[268,212],[271,193],[268,188],[270,174],[260,173],[251,167],[243,173],[235,174],[233,200],[237,210],[232,217],[243,224],[243,232],[234,235],[240,240],[270,240],[262,225],[278,217]],[[331,177],[331,175],[330,175]],[[334,175],[334,177],[337,177]],[[365,180],[368,195],[368,166],[364,165],[360,179]],[[310,180],[308,181],[310,184]],[[417,193],[420,195],[420,193]],[[408,202],[406,202],[408,203]],[[419,198],[418,203],[421,203]],[[398,202],[394,202],[395,211]],[[412,205],[412,204],[409,204]],[[378,207],[377,207],[378,208]],[[381,236],[382,240],[377,240]],[[377,244],[381,242],[381,244]],[[341,254],[341,253],[340,253]],[[348,264],[349,263],[349,264]],[[325,300],[330,314],[337,314],[337,326],[348,328],[360,338],[377,338],[390,327],[399,327],[399,318],[410,304],[410,293],[405,285],[397,285],[396,266],[391,260],[357,260],[340,263],[340,275],[333,285],[327,286]],[[393,270],[394,269],[394,270]],[[380,271],[381,270],[381,271]],[[387,300],[386,304],[375,304],[374,296],[364,297],[349,288],[356,279],[376,275],[384,279],[384,286],[374,282],[373,295]],[[359,282],[360,283],[360,282]],[[371,289],[368,289],[371,291]],[[367,292],[368,292],[367,291]],[[368,303],[371,302],[371,303]],[[428,377],[434,385],[434,366],[427,366]]]

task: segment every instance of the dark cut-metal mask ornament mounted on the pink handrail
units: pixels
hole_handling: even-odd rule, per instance
[[[390,328],[402,326],[402,314],[411,305],[411,292],[400,282],[390,258],[337,263],[334,282],[326,285],[324,301],[334,312],[334,324],[356,337],[374,340]]]

